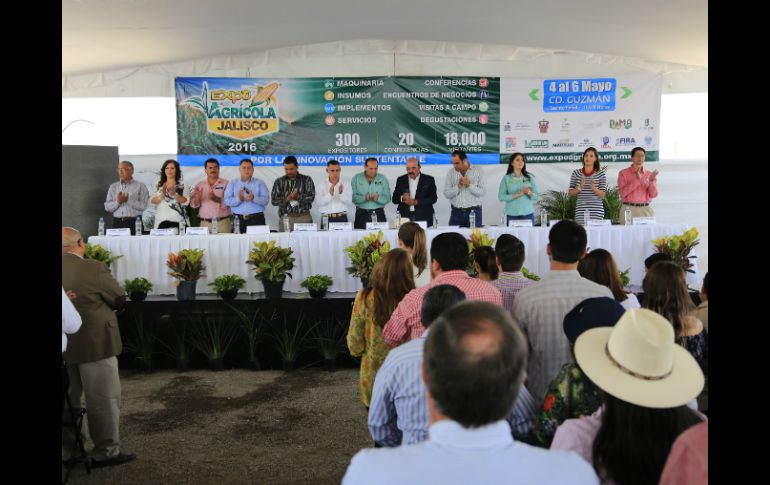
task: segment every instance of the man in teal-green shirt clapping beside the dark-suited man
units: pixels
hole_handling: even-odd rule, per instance
[[[353,205],[356,206],[356,219],[353,227],[366,229],[366,223],[371,222],[372,214],[378,222],[386,222],[385,205],[390,202],[390,184],[381,173],[377,173],[379,162],[369,157],[364,162],[364,172],[357,173],[350,181],[353,187]]]

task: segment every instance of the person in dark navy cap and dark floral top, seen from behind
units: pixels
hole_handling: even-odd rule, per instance
[[[564,334],[569,339],[573,355],[575,340],[581,333],[590,328],[611,327],[625,311],[612,298],[589,298],[578,303],[564,317]],[[601,404],[601,391],[580,370],[580,366],[572,362],[564,364],[556,379],[548,386],[542,407],[535,417],[535,444],[547,448],[551,445],[556,428],[565,419],[590,416]]]

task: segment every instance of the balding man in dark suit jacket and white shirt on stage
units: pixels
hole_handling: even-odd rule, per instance
[[[398,213],[412,221],[425,221],[433,225],[433,204],[436,203],[436,180],[420,173],[420,162],[411,157],[406,160],[406,175],[396,179],[393,203]]]

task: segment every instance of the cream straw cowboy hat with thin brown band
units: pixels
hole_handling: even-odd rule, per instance
[[[638,406],[681,406],[703,389],[703,372],[674,342],[674,327],[643,308],[627,310],[614,327],[583,332],[575,359],[602,390]]]

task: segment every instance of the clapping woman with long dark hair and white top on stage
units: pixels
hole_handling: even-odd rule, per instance
[[[160,169],[160,180],[155,185],[155,196],[150,203],[156,206],[155,228],[179,227],[187,222],[185,207],[190,203],[190,187],[182,180],[182,170],[176,160],[166,160]]]

